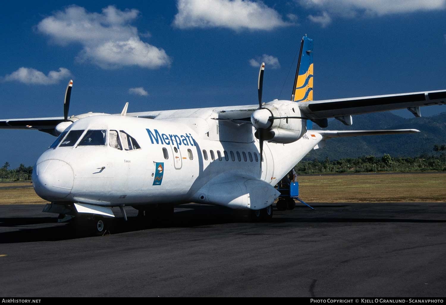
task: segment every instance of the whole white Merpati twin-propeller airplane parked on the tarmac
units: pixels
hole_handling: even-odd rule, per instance
[[[312,130],[328,118],[352,124],[352,115],[445,104],[446,91],[313,101],[313,40],[303,37],[290,100],[258,105],[68,117],[0,120],[0,128],[37,129],[58,138],[33,170],[36,193],[50,201],[44,212],[60,221],[91,219],[102,234],[112,207],[132,206],[147,217],[172,214],[173,206],[198,202],[249,210],[253,221],[273,217],[278,183],[308,152],[334,137],[419,132]],[[157,217],[156,216],[156,217]]]

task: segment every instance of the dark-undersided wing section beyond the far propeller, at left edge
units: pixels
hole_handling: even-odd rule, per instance
[[[0,129],[37,129],[53,134],[61,122],[63,117],[0,120]]]

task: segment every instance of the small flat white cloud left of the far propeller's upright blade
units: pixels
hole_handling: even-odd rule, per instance
[[[33,85],[52,85],[70,76],[71,72],[66,68],[59,68],[59,71],[50,71],[48,75],[45,75],[39,70],[21,67],[17,71],[5,75],[4,81],[17,81]]]

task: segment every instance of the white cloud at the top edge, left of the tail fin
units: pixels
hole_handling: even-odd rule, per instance
[[[173,25],[180,29],[272,30],[291,25],[262,2],[252,0],[178,0]]]

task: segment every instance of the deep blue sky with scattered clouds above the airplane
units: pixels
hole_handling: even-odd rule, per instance
[[[62,116],[70,78],[70,115],[255,104],[262,60],[264,101],[289,99],[304,34],[314,99],[446,89],[446,0],[9,1],[0,14],[0,119]],[[0,137],[12,167],[54,140]]]

